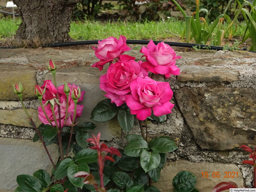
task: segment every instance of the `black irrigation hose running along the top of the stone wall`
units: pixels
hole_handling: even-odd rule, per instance
[[[98,44],[99,40],[88,40],[88,41],[70,41],[70,42],[61,42],[61,43],[50,43],[44,45],[43,47],[66,47],[66,46],[74,46],[74,45],[94,45]],[[153,41],[155,44],[160,43],[162,41]],[[203,45],[203,44],[196,44],[196,43],[180,43],[180,42],[171,42],[171,41],[163,41],[165,44],[175,47],[188,47],[193,48],[197,47],[198,49],[212,49],[212,50],[223,50],[223,47],[220,46],[213,46],[213,45]],[[148,40],[126,40],[127,44],[140,44],[140,45],[147,45],[149,43]],[[7,46],[7,47],[0,47],[0,49],[15,49],[15,46]],[[231,48],[228,48],[231,49]],[[247,47],[243,49],[238,49],[239,51],[248,51]],[[252,53],[256,53],[256,51],[249,51]]]

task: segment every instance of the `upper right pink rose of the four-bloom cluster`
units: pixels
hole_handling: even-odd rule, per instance
[[[165,78],[170,78],[172,75],[179,75],[180,69],[175,65],[175,60],[180,59],[181,56],[177,56],[173,48],[164,42],[155,45],[151,39],[146,47],[142,47],[140,50],[144,53],[142,57],[146,57],[146,62],[141,66],[155,74],[165,75]]]

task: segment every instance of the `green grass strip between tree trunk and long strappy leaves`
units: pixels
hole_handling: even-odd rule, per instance
[[[176,19],[169,19],[165,22],[145,21],[144,23],[77,21],[71,23],[69,35],[76,40],[105,39],[120,35],[124,35],[127,39],[162,40],[171,35],[165,30],[180,35],[184,27],[185,23]]]

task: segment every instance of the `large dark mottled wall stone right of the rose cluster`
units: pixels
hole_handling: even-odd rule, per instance
[[[175,99],[195,142],[202,149],[255,147],[256,90],[253,88],[189,88],[175,91]]]

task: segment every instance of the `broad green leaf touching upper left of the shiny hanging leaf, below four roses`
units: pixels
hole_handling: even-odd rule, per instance
[[[148,150],[147,142],[144,140],[137,140],[128,143],[125,147],[124,153],[131,157],[138,157],[143,150]]]

